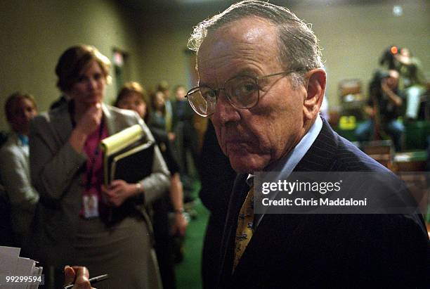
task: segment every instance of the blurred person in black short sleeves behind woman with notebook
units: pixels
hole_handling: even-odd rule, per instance
[[[156,94],[161,96],[160,93]],[[159,101],[158,105],[162,108],[162,98],[157,98],[155,101]],[[145,90],[137,82],[128,82],[124,84],[119,91],[115,106],[126,110],[134,110],[143,120],[148,120],[149,107],[145,98]],[[155,141],[157,141],[171,173],[171,186],[169,188],[168,198],[162,198],[152,203],[155,251],[157,252],[164,289],[176,288],[172,236],[185,236],[185,230],[188,226],[188,219],[185,217],[183,209],[183,186],[178,164],[171,153],[171,142],[167,131],[160,127],[152,127],[151,124],[149,128],[155,137]],[[171,226],[169,225],[168,218],[170,207],[174,212],[174,219]]]

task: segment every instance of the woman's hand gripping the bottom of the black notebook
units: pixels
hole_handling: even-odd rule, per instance
[[[102,193],[107,203],[119,207],[124,201],[142,190],[140,184],[129,184],[122,179],[115,179],[107,188],[102,186]]]

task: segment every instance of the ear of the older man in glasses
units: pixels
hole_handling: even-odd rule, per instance
[[[322,68],[317,68],[306,72],[307,81],[307,95],[304,99],[303,113],[304,117],[308,120],[313,118],[319,113],[321,103],[323,103],[325,93],[326,74]]]

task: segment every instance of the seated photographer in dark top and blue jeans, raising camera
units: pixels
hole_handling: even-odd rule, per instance
[[[369,101],[365,106],[365,113],[370,116],[370,120],[357,127],[358,141],[391,137],[396,151],[401,150],[405,127],[397,117],[401,115],[404,96],[398,90],[398,78],[396,70],[388,72],[378,70],[374,73],[369,87]]]

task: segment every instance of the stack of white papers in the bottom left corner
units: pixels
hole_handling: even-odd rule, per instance
[[[33,289],[42,283],[42,267],[22,258],[20,248],[0,246],[0,288]]]

